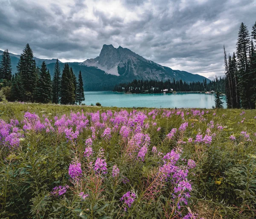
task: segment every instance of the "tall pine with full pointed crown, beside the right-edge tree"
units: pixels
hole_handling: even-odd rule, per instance
[[[239,79],[239,92],[241,97],[241,105],[243,108],[250,108],[250,96],[248,93],[248,88],[251,86],[249,80],[249,62],[248,55],[250,51],[250,35],[247,26],[241,23],[238,34],[238,41],[236,43],[236,55],[237,55],[237,65],[238,79]]]

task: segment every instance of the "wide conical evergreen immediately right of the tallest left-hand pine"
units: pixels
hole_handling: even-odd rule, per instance
[[[49,103],[52,101],[52,81],[46,63],[43,61],[35,89],[35,101],[38,103]]]

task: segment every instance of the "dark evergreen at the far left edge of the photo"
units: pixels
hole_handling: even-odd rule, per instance
[[[12,79],[12,64],[8,49],[4,50],[2,61],[0,62],[0,79],[5,79],[6,81],[11,81]]]

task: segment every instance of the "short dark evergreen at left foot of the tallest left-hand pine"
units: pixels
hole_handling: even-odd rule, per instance
[[[15,74],[12,76],[12,86],[11,86],[11,100],[12,101],[24,101],[24,88],[20,80],[20,75]]]

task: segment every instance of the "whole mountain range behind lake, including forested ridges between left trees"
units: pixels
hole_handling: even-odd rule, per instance
[[[3,51],[0,50],[0,59]],[[12,73],[16,72],[16,66],[20,55],[10,53],[12,61]],[[41,59],[34,57],[36,65],[41,67],[43,61],[51,75],[54,72],[56,59]],[[130,49],[119,46],[117,49],[112,45],[103,45],[98,57],[86,61],[70,62],[76,77],[81,70],[85,91],[113,90],[116,84],[138,80],[182,80],[186,82],[203,81],[201,75],[191,74],[185,71],[173,70],[147,60]],[[60,62],[63,69],[64,63]],[[209,79],[207,79],[209,82]]]

